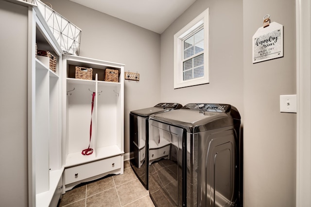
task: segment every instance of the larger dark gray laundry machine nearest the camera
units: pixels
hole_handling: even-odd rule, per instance
[[[149,117],[149,194],[161,207],[241,207],[241,116],[190,103]]]

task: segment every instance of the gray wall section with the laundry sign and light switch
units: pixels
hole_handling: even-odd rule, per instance
[[[266,14],[284,26],[284,57],[252,64]],[[296,114],[279,112],[279,96],[296,94],[295,0],[244,0],[243,20],[245,204],[294,207]]]

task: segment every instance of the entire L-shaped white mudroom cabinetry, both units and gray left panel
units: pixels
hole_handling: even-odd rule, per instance
[[[124,65],[65,55],[34,4],[0,0],[0,18],[1,205],[54,207],[81,182],[123,174]],[[92,80],[75,79],[75,66],[92,67]],[[104,81],[106,68],[118,82]]]

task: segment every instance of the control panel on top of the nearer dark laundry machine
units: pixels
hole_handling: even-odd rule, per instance
[[[229,104],[213,104],[213,103],[190,103],[186,104],[182,109],[193,111],[208,111],[208,112],[226,112],[230,110]]]

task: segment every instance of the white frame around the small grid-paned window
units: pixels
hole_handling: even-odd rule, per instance
[[[204,76],[183,80],[183,40],[198,28],[204,28]],[[174,89],[209,83],[208,8],[174,35]]]

